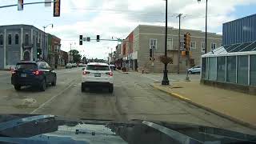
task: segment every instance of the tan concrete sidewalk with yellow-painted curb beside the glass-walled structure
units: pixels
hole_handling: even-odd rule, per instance
[[[199,82],[172,82],[172,86],[154,83],[152,86],[214,114],[256,129],[255,95],[205,86]]]

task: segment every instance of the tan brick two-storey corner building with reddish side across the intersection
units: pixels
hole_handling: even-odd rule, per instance
[[[205,51],[205,32],[200,30],[181,30],[180,50],[183,50],[183,36],[187,32],[191,35],[190,51],[191,61],[194,65],[201,65],[201,55]],[[168,64],[169,72],[178,70],[178,29],[168,28],[167,38],[168,56],[173,58],[173,63]],[[222,35],[207,34],[207,51],[215,50],[222,46]],[[150,61],[150,48],[153,49],[154,62]],[[122,65],[129,70],[162,72],[164,65],[159,57],[164,55],[165,49],[165,27],[164,26],[137,26],[132,33],[122,42],[121,54]],[[188,64],[186,58],[182,58],[180,53],[179,70],[185,72]]]

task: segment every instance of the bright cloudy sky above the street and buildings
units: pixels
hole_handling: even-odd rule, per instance
[[[0,0],[0,6],[16,4],[18,0]],[[24,0],[43,2],[44,0]],[[206,0],[168,0],[168,26],[178,28],[177,14],[181,13],[182,28],[205,30]],[[222,23],[254,14],[255,0],[209,0],[210,32],[222,34]],[[62,50],[79,50],[88,58],[106,58],[118,42],[83,42],[78,45],[78,36],[96,38],[126,38],[139,24],[164,26],[164,0],[62,0],[61,17],[53,17],[52,7],[44,4],[24,6],[24,10],[10,7],[0,9],[1,25],[28,24],[62,38]]]

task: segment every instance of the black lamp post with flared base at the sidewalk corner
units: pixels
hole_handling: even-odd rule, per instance
[[[165,57],[167,58],[167,7],[168,2],[166,0],[166,34],[165,34]],[[162,85],[169,85],[167,63],[165,63],[165,70],[163,71]]]

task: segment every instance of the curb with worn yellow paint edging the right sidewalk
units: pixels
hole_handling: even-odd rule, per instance
[[[230,115],[222,114],[221,112],[218,112],[217,110],[213,110],[213,109],[210,109],[209,107],[202,106],[202,105],[200,105],[200,104],[198,104],[198,103],[196,103],[196,102],[192,102],[189,98],[185,98],[185,97],[183,97],[183,96],[180,95],[180,94],[171,93],[171,92],[168,92],[168,91],[166,91],[166,90],[162,90],[162,89],[158,88],[158,86],[154,86],[153,84],[150,84],[150,86],[154,87],[154,89],[157,89],[157,90],[160,90],[160,91],[162,91],[162,92],[164,92],[164,93],[166,93],[166,94],[169,94],[169,95],[172,96],[172,97],[179,98],[179,99],[181,99],[182,101],[185,101],[185,102],[189,102],[190,104],[192,104],[192,105],[194,105],[194,106],[197,106],[197,107],[199,107],[199,108],[202,108],[202,109],[204,109],[204,110],[207,110],[207,111],[209,111],[210,113],[216,114],[216,115],[218,115],[218,116],[220,116],[220,117],[222,117],[222,118],[229,119],[230,121],[236,122],[236,123],[238,123],[238,124],[240,124],[240,125],[242,125],[242,126],[246,126],[246,127],[249,127],[249,128],[251,128],[251,129],[256,130],[256,126],[250,124],[249,122],[244,122],[244,121],[239,120],[238,118],[234,118],[234,117],[232,117],[232,116],[230,116]]]

